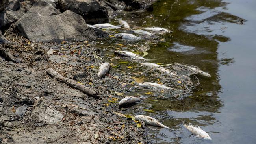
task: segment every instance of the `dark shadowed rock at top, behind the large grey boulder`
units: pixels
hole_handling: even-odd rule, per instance
[[[109,21],[106,7],[97,0],[59,0],[59,6],[61,11],[71,10],[81,15],[88,24]]]

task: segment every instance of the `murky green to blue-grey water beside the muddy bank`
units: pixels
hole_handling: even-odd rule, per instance
[[[145,58],[154,59],[154,63],[186,63],[211,74],[211,78],[198,76],[200,85],[183,98],[162,99],[145,95],[147,91],[143,90],[126,94],[141,94],[147,99],[121,112],[152,116],[172,129],[147,126],[150,143],[255,143],[255,6],[255,0],[161,0],[154,4],[152,12],[124,13],[123,19],[132,26],[159,26],[173,33],[160,35],[160,40],[151,42],[115,38],[98,42],[106,50],[109,62],[114,50],[147,51]],[[117,72],[144,71],[136,66],[137,62],[120,64],[121,61],[126,60],[113,60],[119,64]],[[150,74],[143,79],[157,82]],[[194,138],[180,120],[198,124],[213,140]]]

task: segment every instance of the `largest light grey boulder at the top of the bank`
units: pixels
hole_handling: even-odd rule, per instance
[[[96,39],[95,32],[89,29],[80,15],[69,10],[53,15],[53,11],[58,14],[54,7],[40,0],[15,23],[15,28],[19,35],[37,42]]]

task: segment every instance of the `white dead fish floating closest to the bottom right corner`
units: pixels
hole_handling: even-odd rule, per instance
[[[197,127],[194,127],[190,123],[189,125],[186,125],[183,121],[182,123],[187,130],[189,130],[191,133],[193,133],[193,135],[195,135],[195,137],[211,140],[210,135],[208,135],[208,133],[202,130],[200,126],[197,125]]]

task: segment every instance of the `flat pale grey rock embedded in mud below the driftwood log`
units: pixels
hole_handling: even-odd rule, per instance
[[[35,101],[30,117],[38,122],[56,124],[62,120],[63,115],[59,111],[48,107],[42,99],[38,99]]]

